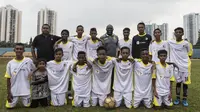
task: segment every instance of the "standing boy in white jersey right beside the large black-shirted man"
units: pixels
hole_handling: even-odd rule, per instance
[[[69,31],[64,29],[61,31],[62,39],[58,40],[55,43],[55,49],[62,48],[63,49],[63,57],[62,60],[72,60],[72,52],[74,48],[74,44],[68,41]]]

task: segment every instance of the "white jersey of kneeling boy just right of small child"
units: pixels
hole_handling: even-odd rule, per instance
[[[71,61],[52,60],[47,63],[49,89],[54,94],[67,92],[71,65]]]

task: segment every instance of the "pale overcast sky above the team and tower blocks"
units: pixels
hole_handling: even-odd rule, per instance
[[[22,42],[37,35],[37,13],[42,8],[57,12],[57,35],[62,29],[74,35],[81,24],[85,34],[96,27],[100,37],[112,24],[119,38],[125,27],[131,29],[131,37],[136,35],[141,21],[168,23],[171,38],[173,29],[183,26],[183,15],[200,13],[200,0],[0,0],[0,7],[8,4],[22,11]]]

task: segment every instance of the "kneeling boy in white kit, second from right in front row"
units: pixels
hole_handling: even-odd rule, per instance
[[[134,75],[134,108],[138,108],[143,102],[145,107],[152,107],[152,72],[153,64],[149,62],[147,49],[141,50],[141,60],[135,60]]]

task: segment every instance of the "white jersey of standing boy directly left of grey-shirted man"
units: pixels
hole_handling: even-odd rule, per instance
[[[87,58],[94,60],[97,58],[97,48],[102,45],[101,41],[96,40],[96,42],[93,42],[92,39],[87,41]]]

